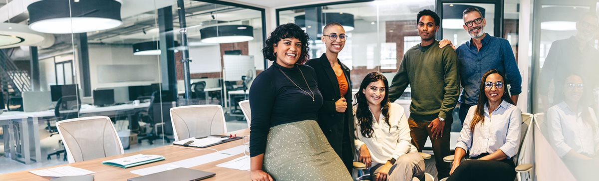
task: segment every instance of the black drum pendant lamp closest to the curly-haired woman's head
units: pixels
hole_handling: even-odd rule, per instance
[[[219,25],[199,30],[202,43],[238,43],[254,40],[254,28],[247,25]]]

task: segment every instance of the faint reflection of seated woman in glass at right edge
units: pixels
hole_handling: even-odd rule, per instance
[[[597,180],[597,117],[583,101],[584,82],[571,74],[562,86],[563,100],[547,110],[549,142],[577,180]]]

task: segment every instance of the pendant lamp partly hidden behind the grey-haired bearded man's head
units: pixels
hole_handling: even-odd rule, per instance
[[[485,17],[485,8],[464,4],[444,4],[443,5],[443,27],[446,29],[464,29],[464,19],[462,13],[467,8],[477,8],[483,17]]]

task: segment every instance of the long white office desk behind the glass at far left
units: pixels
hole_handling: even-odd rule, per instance
[[[111,106],[106,106],[106,107],[90,107],[90,108],[81,108],[81,110],[79,110],[79,114],[81,115],[81,117],[83,116],[113,116],[114,114],[112,114],[113,112],[116,113],[116,111],[135,111],[135,110],[139,110],[139,109],[143,109],[143,108],[147,108],[150,106],[150,102],[144,102],[141,103],[139,105],[133,105],[133,104],[122,104],[122,105],[111,105]],[[68,111],[73,111],[75,112],[76,110],[68,110]],[[12,116],[25,116],[25,120],[22,121],[22,123],[20,124],[22,131],[21,131],[21,138],[23,139],[23,150],[25,150],[25,152],[23,153],[23,157],[27,157],[29,158],[29,148],[30,147],[34,147],[35,148],[35,161],[40,162],[43,161],[43,159],[41,159],[41,145],[40,145],[40,125],[38,123],[38,121],[40,120],[40,118],[43,117],[55,117],[55,113],[54,110],[47,110],[47,111],[35,111],[35,112],[24,112],[24,111],[7,111],[4,112],[2,115],[12,115]],[[29,126],[29,122],[28,122],[28,118],[31,118],[31,129],[28,128]],[[30,134],[30,132],[32,134]],[[29,164],[31,163],[31,159],[25,159],[25,164]]]

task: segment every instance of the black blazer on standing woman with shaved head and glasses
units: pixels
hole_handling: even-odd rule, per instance
[[[349,140],[345,141],[351,146],[353,156],[355,153],[353,141],[355,135],[353,134],[352,82],[350,79],[349,68],[338,59],[337,62],[341,65],[341,69],[343,70],[348,83],[347,93],[343,95],[347,101],[345,113],[335,111],[335,101],[341,98],[341,93],[339,90],[339,83],[337,82],[337,76],[335,76],[335,71],[333,71],[326,55],[323,53],[320,58],[310,59],[306,65],[309,65],[316,71],[318,89],[322,94],[323,104],[318,111],[317,120],[320,129],[322,129],[329,144],[331,144],[331,147],[333,147],[337,153],[341,153],[341,150],[343,150],[343,136],[347,135]],[[344,126],[347,127],[346,132],[343,131]]]

